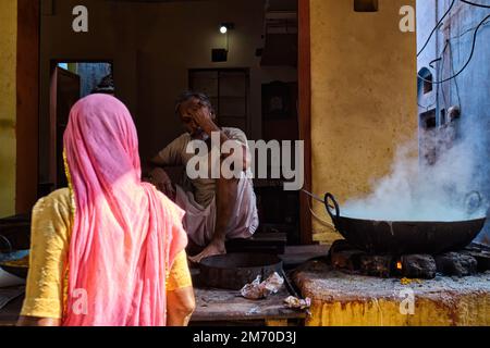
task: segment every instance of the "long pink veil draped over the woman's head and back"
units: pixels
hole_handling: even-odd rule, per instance
[[[63,325],[166,325],[166,271],[187,244],[183,211],[140,181],[122,102],[79,100],[64,148],[75,200]]]

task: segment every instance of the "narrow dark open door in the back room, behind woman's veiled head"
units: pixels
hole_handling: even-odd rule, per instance
[[[70,110],[79,99],[81,78],[78,75],[53,67],[50,90],[50,181],[51,190],[66,187],[63,163],[63,134],[68,125]]]

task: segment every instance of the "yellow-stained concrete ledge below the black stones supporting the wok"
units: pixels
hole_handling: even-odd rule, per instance
[[[333,271],[321,261],[297,270],[294,281],[311,298],[308,326],[467,326],[490,325],[490,272],[462,278],[402,282]],[[402,284],[405,283],[405,284]],[[406,284],[408,283],[408,284]],[[403,290],[412,289],[414,314]]]

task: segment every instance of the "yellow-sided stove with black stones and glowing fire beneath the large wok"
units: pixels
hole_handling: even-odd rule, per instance
[[[368,253],[335,241],[293,279],[311,299],[308,326],[490,325],[490,250]]]

